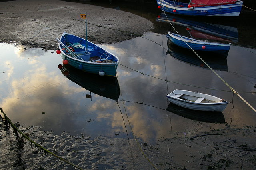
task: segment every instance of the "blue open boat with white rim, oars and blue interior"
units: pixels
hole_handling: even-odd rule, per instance
[[[74,68],[100,76],[116,76],[119,59],[114,54],[84,38],[66,32],[57,40],[57,53],[64,59],[63,64],[70,64]]]

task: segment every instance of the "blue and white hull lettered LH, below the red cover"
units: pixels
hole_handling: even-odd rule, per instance
[[[187,3],[179,3],[169,0],[157,0],[158,6],[164,12],[188,15],[188,16],[239,16],[243,2],[238,1],[235,4],[202,6],[188,8]]]

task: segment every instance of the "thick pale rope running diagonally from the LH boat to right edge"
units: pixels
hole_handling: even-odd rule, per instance
[[[164,11],[162,9],[162,11]],[[165,16],[166,13],[164,12]],[[178,33],[178,31],[174,28],[174,26],[172,25],[172,23],[170,22],[170,20],[168,19],[168,17],[166,16],[167,20],[169,21],[169,23],[171,24],[172,28],[177,32],[177,34],[180,36],[180,34]],[[180,38],[182,38],[182,36],[180,36]],[[232,88],[225,80],[223,80],[223,78],[221,78],[189,45],[188,43],[182,38],[182,40],[187,44],[187,46],[196,54],[196,56],[198,56],[198,58],[200,58],[200,60],[202,60],[202,62],[204,62],[204,64],[206,64],[206,66],[208,66],[208,68],[210,68],[210,70],[212,70],[212,72],[214,72],[214,74],[216,74],[216,76],[218,76],[218,78],[220,78],[220,80],[222,80],[222,82],[224,82],[224,84],[226,86],[228,86],[228,88],[230,88],[230,90],[232,92],[234,92],[234,94],[236,94],[238,97],[240,97],[254,112],[256,112],[256,109],[254,107],[252,107],[252,105],[250,105],[244,98],[242,98],[242,96],[240,96],[240,94],[238,94],[238,92]]]

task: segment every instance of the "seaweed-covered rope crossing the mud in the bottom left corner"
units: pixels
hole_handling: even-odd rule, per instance
[[[56,158],[58,158],[58,159],[60,159],[60,160],[62,160],[62,161],[64,161],[64,162],[66,162],[66,163],[68,163],[68,164],[74,166],[75,168],[78,168],[78,169],[80,169],[80,170],[84,170],[84,169],[80,168],[79,166],[76,166],[75,164],[72,164],[71,162],[68,162],[67,160],[61,158],[60,156],[57,156],[56,154],[50,152],[50,151],[47,150],[46,148],[44,148],[44,147],[40,146],[39,144],[37,144],[36,142],[34,142],[32,139],[28,138],[28,136],[26,136],[23,132],[21,132],[21,131],[12,123],[12,120],[10,120],[10,119],[8,118],[8,116],[4,113],[4,110],[3,110],[1,107],[0,107],[0,110],[1,110],[1,113],[4,114],[4,118],[5,118],[5,119],[8,121],[8,123],[12,126],[12,128],[15,129],[15,130],[17,130],[22,136],[24,136],[24,138],[26,138],[27,140],[29,140],[31,143],[35,144],[38,148],[44,150],[44,152],[49,153],[49,154],[51,154],[52,156],[55,156]],[[17,136],[17,137],[18,137],[18,136]]]

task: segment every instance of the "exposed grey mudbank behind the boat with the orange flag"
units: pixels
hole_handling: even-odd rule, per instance
[[[52,50],[65,31],[88,40],[116,43],[148,32],[153,23],[129,12],[60,0],[0,2],[0,42]]]

